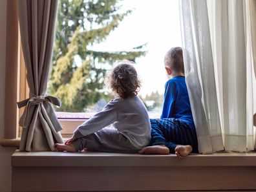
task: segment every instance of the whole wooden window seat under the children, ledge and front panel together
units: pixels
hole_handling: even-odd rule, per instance
[[[12,155],[12,191],[255,190],[255,173],[256,153]]]

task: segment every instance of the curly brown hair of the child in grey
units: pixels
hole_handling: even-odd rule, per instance
[[[107,85],[123,99],[135,96],[140,91],[141,82],[131,63],[120,63],[107,76]]]

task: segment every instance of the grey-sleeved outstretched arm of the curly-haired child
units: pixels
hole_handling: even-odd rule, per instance
[[[98,112],[91,119],[78,126],[74,131],[74,136],[76,138],[81,138],[114,123],[117,120],[116,104],[115,100],[107,103],[101,112]]]

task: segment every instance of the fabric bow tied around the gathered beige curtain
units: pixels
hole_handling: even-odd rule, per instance
[[[23,112],[23,115],[21,116],[21,119],[19,120],[19,125],[23,128],[27,128],[30,123],[30,107],[32,105],[39,105],[40,103],[43,103],[44,101],[48,101],[52,103],[53,105],[56,105],[57,107],[61,107],[61,100],[54,96],[32,96],[31,98],[28,98],[27,100],[19,101],[17,102],[17,106],[19,109],[21,107],[25,107],[25,111]]]

